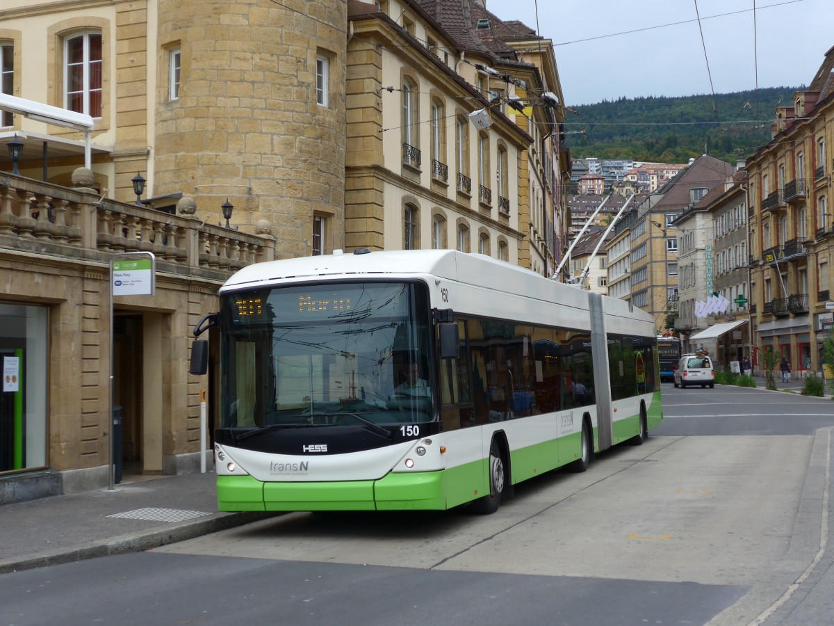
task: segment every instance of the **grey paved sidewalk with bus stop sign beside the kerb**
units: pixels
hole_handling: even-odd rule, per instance
[[[214,472],[5,504],[0,573],[157,548],[275,514],[218,512]]]

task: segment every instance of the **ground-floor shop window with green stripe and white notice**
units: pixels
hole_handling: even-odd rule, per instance
[[[0,304],[0,356],[8,376],[0,402],[0,472],[47,464],[47,312],[43,306]]]

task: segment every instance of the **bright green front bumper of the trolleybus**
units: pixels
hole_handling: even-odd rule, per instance
[[[402,511],[447,508],[444,472],[390,473],[376,481],[261,482],[217,477],[220,511]]]

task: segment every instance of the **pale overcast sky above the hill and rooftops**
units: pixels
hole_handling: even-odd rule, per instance
[[[538,28],[535,0],[486,8],[553,41],[569,106],[753,89],[756,63],[760,88],[798,87],[834,47],[834,0],[538,0]]]

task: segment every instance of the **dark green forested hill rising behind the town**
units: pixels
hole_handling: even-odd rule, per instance
[[[791,106],[798,87],[681,98],[604,100],[569,107],[566,141],[572,158],[686,163],[710,154],[735,163],[771,139],[776,106]],[[713,106],[715,103],[715,106]],[[758,114],[756,114],[758,111]],[[581,134],[585,130],[587,135]]]

